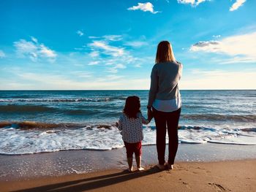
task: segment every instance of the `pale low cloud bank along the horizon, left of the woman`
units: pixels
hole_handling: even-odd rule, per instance
[[[15,72],[16,81],[4,80],[0,84],[1,90],[13,89],[30,89],[30,90],[126,90],[126,89],[147,89],[149,87],[149,78],[146,79],[132,79],[127,84],[127,78],[124,76],[109,74],[105,77],[96,77],[93,80],[85,72],[74,72],[81,77],[82,81],[70,79],[59,74],[48,73],[31,73],[31,72]],[[90,74],[89,74],[90,75]],[[89,77],[89,78],[86,78]],[[24,80],[26,83],[24,83]],[[126,85],[126,86],[124,86]]]

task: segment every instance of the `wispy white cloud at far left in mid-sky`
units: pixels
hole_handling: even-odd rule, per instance
[[[54,61],[57,54],[54,50],[46,47],[42,43],[39,44],[37,39],[31,37],[31,41],[20,39],[13,43],[16,48],[16,53],[21,57],[28,56],[31,61],[38,61],[38,59],[47,58],[49,61]]]

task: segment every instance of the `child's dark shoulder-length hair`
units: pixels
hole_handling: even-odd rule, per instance
[[[128,118],[138,118],[137,114],[140,112],[140,98],[138,96],[128,96],[123,112]]]

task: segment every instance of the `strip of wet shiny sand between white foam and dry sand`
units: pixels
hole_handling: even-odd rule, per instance
[[[146,145],[142,149],[142,166],[157,164],[156,145]],[[167,159],[167,151],[165,159]],[[256,159],[256,145],[179,144],[176,155],[176,162],[179,163],[254,159]],[[30,155],[0,155],[0,182],[89,174],[108,169],[127,169],[124,147],[104,151],[64,150]]]

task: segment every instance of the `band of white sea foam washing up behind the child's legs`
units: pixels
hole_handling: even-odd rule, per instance
[[[143,128],[143,145],[156,144],[154,127]],[[245,136],[246,135],[246,136]],[[248,137],[249,136],[249,137]],[[179,142],[188,144],[256,145],[255,132],[240,129],[184,126],[178,131]],[[168,138],[166,138],[166,143]],[[0,128],[0,153],[7,155],[54,152],[59,150],[112,150],[124,147],[116,127],[29,129]]]

